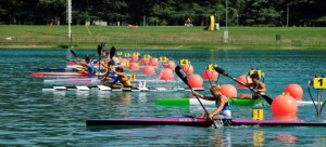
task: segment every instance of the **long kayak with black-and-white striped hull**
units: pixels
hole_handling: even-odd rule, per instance
[[[123,89],[111,89],[108,85],[72,85],[72,86],[51,86],[45,88],[42,91],[116,91],[116,92],[174,92],[174,91],[191,91],[190,89],[166,89],[166,88],[123,88]],[[197,91],[202,91],[202,89],[198,89]]]

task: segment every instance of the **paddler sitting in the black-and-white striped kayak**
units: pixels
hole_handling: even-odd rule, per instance
[[[121,88],[133,88],[133,84],[127,77],[127,75],[124,72],[124,68],[122,67],[116,67],[114,69],[113,66],[110,67],[111,71],[116,74],[117,77],[116,79],[111,83],[111,88],[113,89],[121,89]],[[116,82],[120,81],[122,84],[116,84]]]

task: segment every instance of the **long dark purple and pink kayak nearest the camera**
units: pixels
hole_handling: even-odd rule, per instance
[[[214,121],[217,125],[260,125],[260,126],[326,126],[326,122],[304,121],[277,121],[277,120],[247,120],[247,119],[220,119]],[[87,126],[100,125],[186,125],[186,126],[212,126],[210,119],[198,118],[128,118],[128,119],[88,119]]]

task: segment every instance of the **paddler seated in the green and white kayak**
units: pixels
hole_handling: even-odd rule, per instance
[[[261,97],[261,95],[265,95],[266,86],[263,82],[260,81],[260,76],[254,72],[250,75],[252,83],[247,84],[247,86],[253,89],[252,94],[240,94],[239,98],[253,98],[256,99]]]

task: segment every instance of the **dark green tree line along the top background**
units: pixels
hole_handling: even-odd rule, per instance
[[[67,24],[67,0],[0,0],[0,24]],[[227,8],[227,9],[226,9]],[[73,25],[105,21],[206,26],[209,16],[230,26],[325,26],[325,0],[73,0]]]

